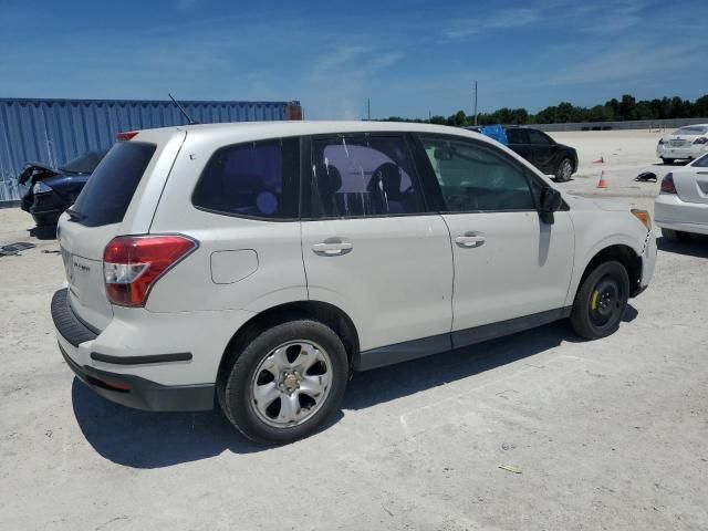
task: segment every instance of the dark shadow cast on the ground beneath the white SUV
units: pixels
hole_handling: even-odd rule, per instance
[[[636,315],[629,305],[624,321]],[[563,342],[581,341],[565,322],[556,322],[436,356],[356,373],[342,409],[365,409],[531,358]],[[77,378],[71,393],[74,416],[88,444],[104,458],[126,467],[163,468],[223,451],[252,454],[270,449],[246,439],[218,407],[204,413],[140,412],[98,396]],[[323,429],[342,416],[340,413]]]

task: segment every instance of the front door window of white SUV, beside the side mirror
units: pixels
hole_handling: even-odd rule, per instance
[[[523,170],[480,144],[423,137],[447,211],[534,210]]]

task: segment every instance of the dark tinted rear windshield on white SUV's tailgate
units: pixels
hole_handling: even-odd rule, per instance
[[[157,146],[119,142],[101,160],[72,207],[86,227],[119,223]]]

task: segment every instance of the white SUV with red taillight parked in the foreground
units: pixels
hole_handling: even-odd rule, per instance
[[[288,442],[365,371],[570,317],[617,330],[654,270],[648,214],[556,190],[502,145],[399,123],[122,133],[59,223],[52,300],[96,393],[211,409]]]

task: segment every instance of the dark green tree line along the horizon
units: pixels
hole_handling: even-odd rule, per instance
[[[613,97],[604,105],[580,107],[572,103],[561,102],[551,105],[537,114],[530,114],[525,108],[502,107],[493,113],[477,115],[479,125],[489,124],[563,124],[570,122],[622,122],[628,119],[666,119],[666,118],[702,118],[708,117],[708,94],[695,102],[681,100],[678,96],[662,97],[660,100],[637,100],[624,94],[621,100]],[[388,122],[418,122],[439,125],[465,126],[473,125],[475,116],[458,111],[448,117],[430,116],[429,119],[402,118],[391,116]]]

